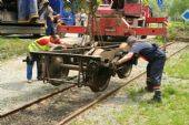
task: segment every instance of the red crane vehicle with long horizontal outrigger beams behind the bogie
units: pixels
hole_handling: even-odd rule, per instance
[[[92,19],[92,28],[59,25],[58,32],[89,33],[92,29],[94,38],[139,35],[167,35],[167,18],[152,17],[149,6],[143,6],[141,0],[113,0],[110,4],[100,4]],[[117,2],[116,2],[117,1]],[[160,25],[150,28],[150,23]],[[159,23],[159,24],[158,24]]]

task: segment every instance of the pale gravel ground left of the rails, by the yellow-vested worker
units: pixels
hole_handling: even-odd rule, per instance
[[[63,40],[71,41],[71,44],[81,41],[81,38],[76,38],[77,34],[67,33]],[[6,62],[0,62],[0,114],[17,108],[26,104],[26,102],[32,102],[59,87],[68,86],[61,85],[56,87],[37,81],[36,65],[33,66],[33,82],[32,84],[28,84],[26,79],[26,63],[22,62],[23,59],[26,56],[16,56]]]

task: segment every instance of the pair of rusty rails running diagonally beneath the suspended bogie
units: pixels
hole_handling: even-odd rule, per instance
[[[169,46],[169,45],[171,45],[171,44],[173,44],[173,43],[169,43],[169,44],[167,44],[167,46]],[[182,50],[186,49],[186,48],[188,48],[188,44],[187,44],[185,48],[178,50],[177,52],[170,54],[169,59],[170,59],[171,56],[173,56],[175,54],[177,54],[178,52],[182,51]],[[66,124],[66,123],[70,122],[72,118],[74,118],[74,117],[78,116],[79,114],[83,113],[84,111],[87,111],[87,110],[89,110],[90,107],[94,106],[97,103],[106,100],[107,97],[109,97],[110,95],[112,95],[113,93],[116,93],[117,91],[119,91],[120,88],[122,88],[123,86],[126,86],[127,84],[129,84],[130,82],[132,82],[132,81],[135,81],[136,79],[140,77],[141,75],[143,75],[143,73],[146,73],[146,71],[143,71],[142,73],[140,73],[140,74],[137,75],[136,77],[131,79],[131,80],[128,81],[127,83],[125,83],[125,84],[116,87],[116,88],[112,90],[111,92],[108,92],[107,94],[101,94],[100,96],[96,97],[96,100],[92,101],[91,103],[88,103],[87,105],[80,107],[79,110],[72,112],[70,115],[68,115],[67,117],[64,117],[63,119],[61,119],[61,121],[58,123],[58,125]],[[7,116],[11,116],[11,115],[14,114],[14,113],[18,113],[18,112],[20,112],[20,111],[23,111],[23,110],[27,108],[27,107],[30,107],[30,106],[32,106],[32,105],[34,105],[34,104],[38,104],[38,103],[40,103],[40,102],[42,102],[42,101],[44,101],[44,100],[47,100],[47,98],[50,98],[50,97],[52,97],[52,96],[54,96],[54,95],[58,95],[59,93],[62,93],[62,92],[64,92],[64,91],[68,91],[68,90],[72,88],[72,87],[74,87],[74,85],[71,85],[71,86],[68,86],[68,87],[66,87],[66,88],[59,90],[59,91],[57,91],[57,92],[53,92],[53,93],[51,93],[51,94],[48,94],[48,95],[46,95],[46,96],[43,96],[43,97],[41,97],[41,98],[36,100],[36,101],[32,102],[32,103],[28,103],[28,104],[26,104],[26,105],[23,105],[23,106],[20,106],[20,107],[17,108],[17,110],[13,110],[13,111],[11,111],[11,112],[9,112],[9,113],[6,113],[6,114],[0,115],[0,118],[7,117]]]

